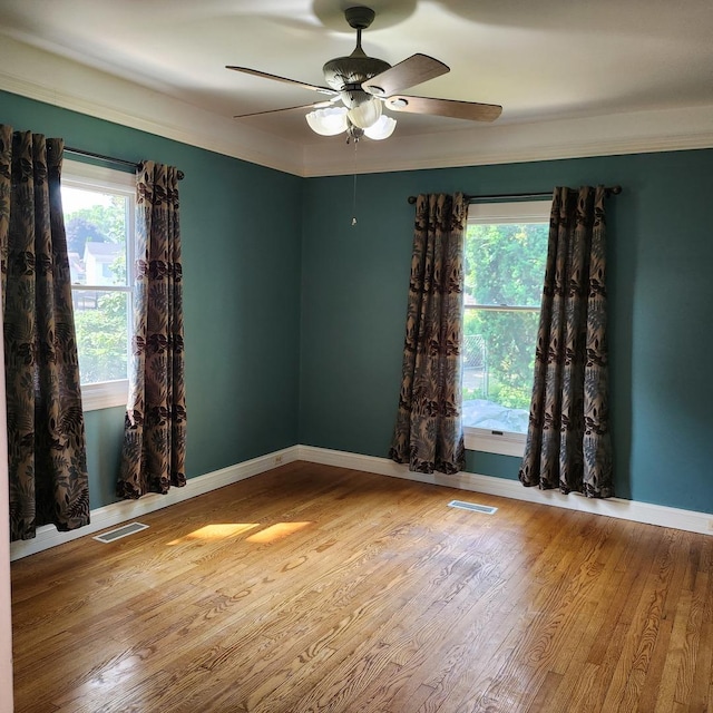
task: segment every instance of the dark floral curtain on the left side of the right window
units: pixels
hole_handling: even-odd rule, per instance
[[[420,195],[406,323],[399,410],[389,457],[416,472],[466,465],[461,421],[462,194]]]

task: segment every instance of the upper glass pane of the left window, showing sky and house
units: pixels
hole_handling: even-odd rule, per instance
[[[62,186],[72,284],[126,285],[126,196]]]

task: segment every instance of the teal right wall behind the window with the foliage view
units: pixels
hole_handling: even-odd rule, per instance
[[[345,154],[346,156],[346,154]],[[306,180],[300,442],[384,457],[395,416],[418,193],[621,184],[608,256],[617,495],[713,512],[713,152]],[[468,470],[516,478],[516,458]]]

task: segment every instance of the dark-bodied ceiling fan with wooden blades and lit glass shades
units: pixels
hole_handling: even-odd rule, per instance
[[[502,107],[495,104],[412,97],[401,94],[404,89],[449,72],[450,68],[438,59],[420,53],[412,55],[393,67],[382,59],[369,57],[361,47],[361,32],[373,22],[374,11],[367,7],[353,7],[344,11],[344,17],[350,27],[356,30],[356,47],[349,57],[336,57],[324,65],[322,71],[326,87],[247,67],[232,65],[226,67],[316,91],[331,97],[330,99],[296,107],[241,114],[235,118],[311,109],[306,114],[306,120],[313,131],[323,136],[346,131],[349,143],[350,139],[358,141],[362,136],[372,139],[384,139],[391,136],[397,121],[384,114],[383,108],[471,121],[494,121],[500,116]]]

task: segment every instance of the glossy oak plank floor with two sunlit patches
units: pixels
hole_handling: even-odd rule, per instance
[[[713,711],[713,537],[307,463],[141,521],[12,565],[17,713]]]

